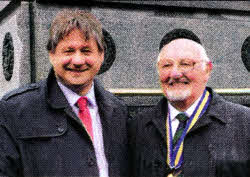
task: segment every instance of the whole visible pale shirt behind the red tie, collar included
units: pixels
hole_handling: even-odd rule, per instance
[[[66,99],[68,100],[73,111],[75,112],[77,117],[79,117],[78,116],[79,108],[76,106],[77,105],[76,103],[81,96],[76,94],[69,88],[67,88],[60,81],[57,81],[57,83],[59,87],[61,88],[63,94],[65,95]],[[98,105],[95,99],[94,82],[92,84],[91,89],[85,96],[88,98],[88,108],[89,108],[90,116],[92,119],[92,129],[93,129],[93,136],[94,136],[93,145],[95,149],[97,166],[99,169],[99,176],[108,177],[108,162],[104,153],[102,124],[101,124],[100,115],[98,112]]]

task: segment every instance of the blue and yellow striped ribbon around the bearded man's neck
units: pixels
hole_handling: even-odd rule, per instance
[[[188,119],[187,125],[178,140],[175,148],[173,149],[172,144],[172,126],[171,126],[171,117],[170,111],[168,110],[168,116],[166,121],[166,135],[167,135],[167,164],[171,169],[178,169],[183,162],[183,142],[186,134],[191,130],[197,120],[203,115],[206,111],[209,102],[211,100],[211,95],[207,90],[204,90],[203,95],[196,106],[193,114]]]

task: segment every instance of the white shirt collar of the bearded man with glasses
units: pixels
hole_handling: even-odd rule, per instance
[[[196,106],[198,105],[200,99],[201,99],[202,95],[184,112],[188,117],[191,117],[191,115],[193,114]],[[169,107],[169,111],[170,111],[170,115],[171,115],[171,121],[173,121],[175,119],[175,117],[181,113],[181,111],[177,110],[174,106],[172,106],[170,104],[170,102],[168,102],[168,107]]]

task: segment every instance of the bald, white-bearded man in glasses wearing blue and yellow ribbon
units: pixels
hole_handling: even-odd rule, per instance
[[[212,64],[199,38],[167,33],[157,70],[164,97],[129,128],[133,176],[250,176],[250,109],[206,87]]]

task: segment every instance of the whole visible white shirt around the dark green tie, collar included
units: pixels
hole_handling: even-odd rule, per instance
[[[184,113],[190,117],[196,106],[198,105],[200,99],[201,99],[202,95],[192,104],[192,106],[190,106]],[[179,120],[176,119],[176,116],[179,114],[179,113],[182,113],[181,111],[177,110],[174,106],[172,106],[169,102],[168,102],[168,108],[169,108],[169,111],[170,111],[170,118],[171,118],[171,126],[172,126],[172,136],[174,137],[174,134],[178,128],[178,125],[179,125]]]

